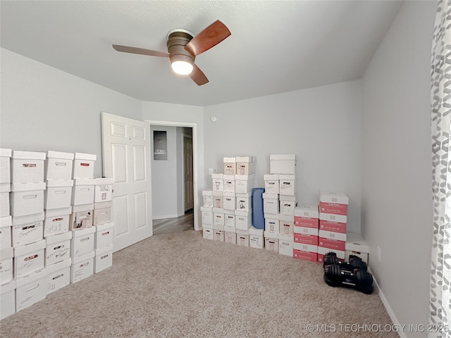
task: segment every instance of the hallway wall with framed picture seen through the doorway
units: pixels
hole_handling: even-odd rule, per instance
[[[178,217],[178,149],[176,127],[151,125],[150,134],[154,146],[154,130],[166,131],[167,160],[154,160],[152,156],[152,218]],[[153,149],[152,149],[153,151]]]

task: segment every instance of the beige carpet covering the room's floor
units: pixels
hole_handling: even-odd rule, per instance
[[[344,324],[391,320],[377,294],[328,287],[317,263],[190,230],[114,253],[108,270],[2,320],[0,336],[398,337]]]

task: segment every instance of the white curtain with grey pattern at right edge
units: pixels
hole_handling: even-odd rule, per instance
[[[431,58],[433,248],[431,332],[451,337],[451,0],[439,0]]]

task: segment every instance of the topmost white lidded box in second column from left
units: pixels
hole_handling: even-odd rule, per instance
[[[11,155],[11,183],[44,182],[45,153],[13,151]]]

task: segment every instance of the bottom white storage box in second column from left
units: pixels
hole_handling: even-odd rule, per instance
[[[19,312],[47,296],[47,271],[43,268],[16,280],[16,311]]]

